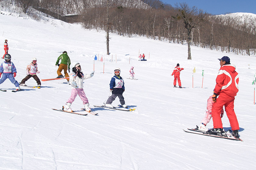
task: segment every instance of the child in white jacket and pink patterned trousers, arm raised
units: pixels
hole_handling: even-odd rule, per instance
[[[69,97],[68,101],[66,102],[65,107],[62,106],[62,110],[64,111],[70,111],[72,112],[72,109],[70,108],[71,104],[75,100],[76,96],[78,95],[84,104],[84,109],[88,112],[91,112],[91,108],[89,107],[89,101],[84,93],[83,89],[83,81],[84,79],[88,79],[93,77],[94,71],[91,72],[91,74],[85,74],[81,72],[81,66],[78,62],[72,63],[72,74],[69,78],[69,83],[72,86],[71,90],[71,96]]]

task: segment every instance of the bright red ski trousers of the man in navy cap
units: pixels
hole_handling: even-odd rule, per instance
[[[213,128],[223,128],[220,115],[221,109],[223,106],[225,106],[225,111],[227,117],[229,118],[231,130],[239,130],[239,124],[234,111],[234,100],[235,97],[228,96],[225,93],[220,93],[219,97],[217,98],[217,102],[212,105]]]

